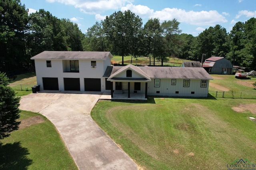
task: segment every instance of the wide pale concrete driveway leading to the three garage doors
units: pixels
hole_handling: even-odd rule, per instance
[[[31,93],[22,97],[20,109],[40,113],[55,125],[80,170],[138,169],[90,117],[100,96]]]

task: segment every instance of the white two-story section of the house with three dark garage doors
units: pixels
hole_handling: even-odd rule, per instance
[[[31,59],[40,90],[104,91],[102,75],[112,57],[110,52],[43,51]]]

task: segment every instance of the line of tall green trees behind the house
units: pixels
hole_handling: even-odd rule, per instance
[[[147,56],[167,61],[178,57],[201,61],[220,56],[233,65],[256,67],[256,18],[237,22],[228,33],[220,25],[209,27],[198,36],[181,34],[176,19],[160,22],[142,19],[130,10],[114,12],[96,22],[83,34],[78,25],[40,9],[28,15],[20,0],[0,1],[0,71],[32,67],[30,57],[45,51],[111,51],[113,55]],[[151,61],[152,60],[152,61]]]

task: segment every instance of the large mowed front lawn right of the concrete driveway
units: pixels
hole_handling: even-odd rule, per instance
[[[232,107],[248,99],[150,98],[99,101],[98,125],[145,169],[227,169],[237,158],[256,162],[255,117]]]

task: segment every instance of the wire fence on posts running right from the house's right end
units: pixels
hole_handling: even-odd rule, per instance
[[[248,91],[209,91],[210,95],[215,98],[232,98],[232,99],[256,99],[256,92]]]

